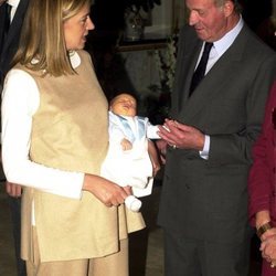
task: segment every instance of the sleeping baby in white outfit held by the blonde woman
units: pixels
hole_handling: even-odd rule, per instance
[[[150,139],[160,139],[158,126],[147,117],[137,116],[137,102],[127,93],[119,94],[109,107],[109,149],[102,166],[102,176],[115,183],[132,188],[126,206],[138,212],[141,201],[136,197],[151,193],[153,171],[160,168]],[[153,158],[151,158],[153,157]]]

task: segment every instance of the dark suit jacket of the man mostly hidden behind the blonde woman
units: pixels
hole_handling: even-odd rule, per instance
[[[20,0],[14,18],[11,22],[8,36],[4,41],[3,49],[0,55],[0,84],[3,81],[4,75],[10,70],[11,60],[13,59],[19,44],[21,26],[23,23],[24,14],[29,4],[29,0]],[[3,6],[0,7],[0,38],[3,33]]]

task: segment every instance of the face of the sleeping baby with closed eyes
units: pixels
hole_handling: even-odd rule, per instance
[[[134,117],[137,113],[136,99],[129,94],[120,94],[113,99],[110,110],[117,115]]]

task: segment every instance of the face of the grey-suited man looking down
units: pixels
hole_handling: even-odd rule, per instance
[[[220,40],[227,32],[225,4],[216,7],[214,0],[187,0],[190,10],[189,24],[198,36],[208,42]]]

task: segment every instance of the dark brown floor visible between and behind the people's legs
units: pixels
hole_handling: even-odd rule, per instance
[[[156,187],[151,197],[142,199],[148,227],[130,235],[130,276],[163,276],[162,231],[156,225],[160,190],[161,187]],[[15,276],[11,231],[8,200],[0,184],[0,276]],[[256,253],[257,248],[253,252],[250,276],[261,275]]]

